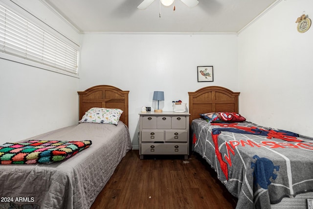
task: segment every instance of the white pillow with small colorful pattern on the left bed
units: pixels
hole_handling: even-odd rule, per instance
[[[108,123],[117,125],[117,122],[123,113],[120,109],[99,108],[89,109],[79,121],[80,123]]]

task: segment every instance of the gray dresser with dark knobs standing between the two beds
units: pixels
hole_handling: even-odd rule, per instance
[[[139,155],[189,155],[189,113],[139,113]]]

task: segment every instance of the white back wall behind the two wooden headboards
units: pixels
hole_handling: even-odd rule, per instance
[[[138,145],[138,113],[164,91],[163,111],[172,101],[188,103],[188,92],[204,86],[238,91],[236,35],[101,34],[82,37],[80,91],[95,85],[129,90],[129,129]],[[214,82],[197,81],[197,66],[213,66]]]

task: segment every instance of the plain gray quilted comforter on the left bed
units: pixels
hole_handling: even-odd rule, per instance
[[[0,165],[0,197],[41,209],[89,209],[132,148],[122,122],[80,123],[31,139],[92,141],[88,149],[60,163]]]

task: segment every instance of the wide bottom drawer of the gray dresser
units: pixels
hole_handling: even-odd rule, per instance
[[[187,148],[181,143],[142,143],[141,155],[187,155]]]

